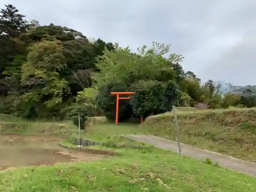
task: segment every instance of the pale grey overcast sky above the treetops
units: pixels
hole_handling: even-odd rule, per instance
[[[256,84],[255,0],[1,0],[41,25],[130,46],[172,45],[203,81]]]

